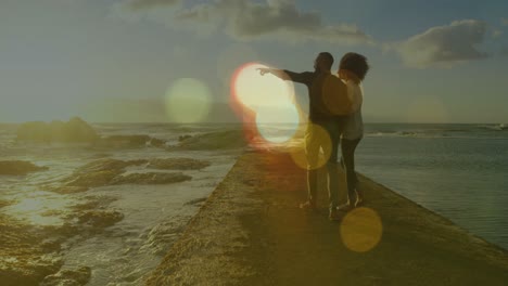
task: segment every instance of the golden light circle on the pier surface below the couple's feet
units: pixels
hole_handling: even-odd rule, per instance
[[[382,233],[381,218],[370,208],[355,208],[342,220],[342,242],[356,252],[367,252],[374,248],[381,240]]]

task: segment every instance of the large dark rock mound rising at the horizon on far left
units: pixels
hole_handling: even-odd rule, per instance
[[[67,122],[52,121],[50,123],[35,121],[26,122],[17,129],[18,142],[35,143],[92,143],[99,139],[96,130],[79,117]]]

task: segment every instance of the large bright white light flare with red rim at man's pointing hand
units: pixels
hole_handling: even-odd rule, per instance
[[[293,102],[293,84],[270,74],[262,76],[258,68],[267,67],[249,63],[237,69],[231,82],[237,102],[253,110]]]

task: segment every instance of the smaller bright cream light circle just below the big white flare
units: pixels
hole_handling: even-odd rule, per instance
[[[261,136],[270,143],[284,143],[291,140],[299,129],[300,114],[290,102],[262,107],[256,114],[256,128]]]

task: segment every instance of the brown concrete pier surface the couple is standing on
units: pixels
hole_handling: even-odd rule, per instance
[[[246,152],[147,285],[508,285],[508,251],[366,177],[366,204],[329,221],[320,177],[303,211],[292,156]]]

